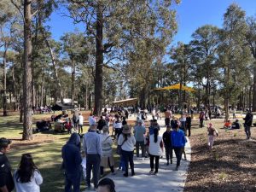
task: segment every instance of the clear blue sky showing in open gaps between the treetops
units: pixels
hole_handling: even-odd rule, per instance
[[[182,0],[179,5],[175,6],[178,32],[172,44],[176,44],[177,41],[189,43],[191,34],[200,26],[212,24],[221,27],[224,12],[230,3],[237,3],[241,6],[247,16],[256,15],[256,0]],[[65,32],[73,32],[75,28],[84,29],[81,24],[73,25],[73,20],[63,17],[61,12],[65,11],[55,11],[48,23],[53,38],[58,40]]]

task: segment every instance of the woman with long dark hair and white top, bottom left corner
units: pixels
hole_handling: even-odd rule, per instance
[[[35,166],[31,154],[22,154],[20,166],[14,174],[16,192],[40,192],[43,177]]]

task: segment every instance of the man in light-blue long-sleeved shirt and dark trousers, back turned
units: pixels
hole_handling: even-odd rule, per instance
[[[93,183],[96,189],[102,157],[101,137],[96,133],[96,125],[90,126],[90,131],[84,134],[83,146],[86,154],[86,183],[90,189],[90,172],[93,170]]]

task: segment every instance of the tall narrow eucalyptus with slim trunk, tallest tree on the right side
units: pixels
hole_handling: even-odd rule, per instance
[[[245,12],[235,3],[231,4],[224,14],[221,44],[218,49],[218,62],[224,74],[222,91],[225,119],[229,119],[231,97],[239,93],[241,84],[245,84],[245,81],[239,78],[245,77],[242,73],[247,72],[247,64],[251,59],[249,49],[245,46],[246,28]]]

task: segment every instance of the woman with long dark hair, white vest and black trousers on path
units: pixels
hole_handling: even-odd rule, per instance
[[[149,148],[148,152],[150,154],[150,168],[149,174],[157,175],[159,167],[159,159],[163,152],[163,142],[162,137],[158,135],[158,129],[154,129],[154,134],[149,137]],[[154,169],[154,159],[155,159],[155,169]]]

